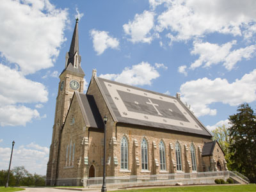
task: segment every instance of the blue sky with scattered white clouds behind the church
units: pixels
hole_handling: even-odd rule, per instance
[[[79,18],[97,76],[174,96],[211,131],[256,106],[255,0],[1,0],[0,170],[46,174],[58,76]]]

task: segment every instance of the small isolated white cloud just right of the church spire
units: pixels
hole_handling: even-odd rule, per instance
[[[108,33],[108,31],[97,31],[95,29],[90,31],[93,38],[93,49],[97,52],[97,55],[102,54],[109,47],[118,49],[119,42],[117,38],[109,36]]]

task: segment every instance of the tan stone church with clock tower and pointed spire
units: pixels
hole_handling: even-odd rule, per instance
[[[60,74],[47,185],[81,186],[102,177],[104,122],[106,176],[227,170],[211,132],[176,97],[97,77],[86,94],[78,20]]]

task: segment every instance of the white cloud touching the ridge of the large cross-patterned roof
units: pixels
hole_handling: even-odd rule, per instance
[[[142,61],[138,65],[125,67],[121,74],[101,74],[100,77],[131,85],[150,85],[159,73],[150,63]]]

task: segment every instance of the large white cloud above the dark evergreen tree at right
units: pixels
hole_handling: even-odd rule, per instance
[[[256,100],[256,69],[233,83],[228,83],[227,79],[206,77],[188,81],[180,86],[180,93],[182,100],[191,104],[196,116],[216,115],[217,110],[209,107],[214,102],[237,106]]]

